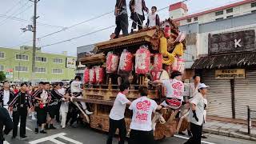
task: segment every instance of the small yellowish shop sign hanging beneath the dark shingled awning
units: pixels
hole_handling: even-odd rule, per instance
[[[244,79],[246,78],[246,70],[230,69],[230,70],[215,70],[216,79]]]

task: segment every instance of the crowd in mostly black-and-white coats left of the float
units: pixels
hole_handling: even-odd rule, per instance
[[[54,122],[60,122],[62,128],[70,123],[75,127],[81,110],[92,114],[85,102],[72,102],[73,98],[82,98],[81,77],[76,76],[74,81],[64,86],[62,82],[39,82],[37,86],[22,83],[19,86],[10,86],[10,82],[3,82],[0,90],[0,107],[7,110],[7,116],[12,118],[13,136],[17,137],[18,123],[20,122],[20,137],[26,138],[26,118],[28,113],[36,120],[35,133],[46,134],[46,130],[56,129]],[[4,113],[5,111],[1,111]],[[2,116],[1,116],[2,117]],[[8,123],[10,125],[10,122]],[[3,142],[3,126],[0,122],[0,137]],[[6,130],[8,131],[8,130]]]

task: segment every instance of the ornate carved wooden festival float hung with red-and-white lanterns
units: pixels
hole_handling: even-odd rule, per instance
[[[175,22],[168,19],[161,26],[97,43],[94,54],[78,59],[86,65],[84,98],[74,101],[86,102],[94,112],[89,116],[90,126],[98,130],[109,130],[109,114],[120,82],[130,82],[129,94],[126,95],[130,101],[138,98],[138,87],[144,85],[149,87],[149,98],[158,104],[162,102],[165,96],[161,86],[153,86],[150,82],[169,78],[168,74],[172,70],[184,70],[181,58],[185,49],[184,39],[185,34],[179,32]],[[165,111],[163,117],[166,122],[160,123],[154,119],[157,122],[155,139],[172,137],[178,126],[173,110],[162,111]],[[130,110],[126,110],[127,129],[130,127],[131,114]],[[186,130],[186,123],[182,122],[182,130]]]

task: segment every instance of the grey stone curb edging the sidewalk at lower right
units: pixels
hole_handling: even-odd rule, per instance
[[[219,134],[226,137],[241,138],[241,139],[256,141],[256,137],[245,135],[245,134],[239,134],[236,132],[230,132],[228,130],[212,129],[209,127],[204,127],[202,130],[203,132],[210,133],[210,134]]]

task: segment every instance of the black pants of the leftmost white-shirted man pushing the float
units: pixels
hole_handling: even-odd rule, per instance
[[[112,144],[112,140],[115,134],[115,131],[118,129],[120,140],[118,144],[124,144],[126,138],[126,122],[125,119],[122,118],[118,121],[110,118],[110,129],[109,136],[107,138],[106,144]]]

